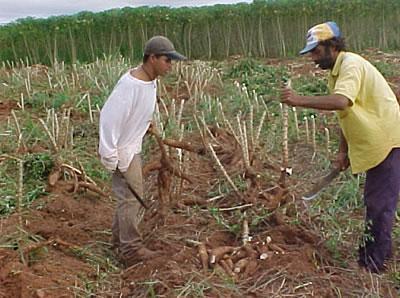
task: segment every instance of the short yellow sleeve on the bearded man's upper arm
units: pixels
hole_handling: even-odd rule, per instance
[[[354,104],[360,92],[362,73],[360,65],[350,59],[343,61],[332,93],[344,95]]]

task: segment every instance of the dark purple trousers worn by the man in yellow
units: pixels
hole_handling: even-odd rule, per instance
[[[392,229],[400,192],[400,148],[394,148],[378,166],[367,171],[364,189],[366,237],[359,263],[372,272],[384,269],[392,256]]]

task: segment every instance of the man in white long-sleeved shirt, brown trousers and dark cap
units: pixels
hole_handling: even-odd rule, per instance
[[[152,37],[145,45],[143,64],[119,79],[100,113],[99,154],[113,172],[117,198],[113,244],[125,266],[155,255],[144,246],[138,231],[144,193],[140,152],[156,104],[155,79],[171,70],[172,60],[184,59],[166,37]]]

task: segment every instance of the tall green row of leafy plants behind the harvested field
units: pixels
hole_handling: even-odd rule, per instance
[[[168,36],[189,58],[297,54],[306,30],[336,21],[350,48],[400,48],[399,0],[254,0],[197,8],[139,7],[27,18],[0,27],[0,60],[52,64],[104,55],[139,59],[145,41]]]

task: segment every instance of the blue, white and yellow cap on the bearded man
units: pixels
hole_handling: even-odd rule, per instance
[[[315,49],[320,41],[328,40],[333,37],[341,37],[340,29],[335,22],[325,22],[315,25],[307,32],[307,43],[300,55],[304,55]]]

